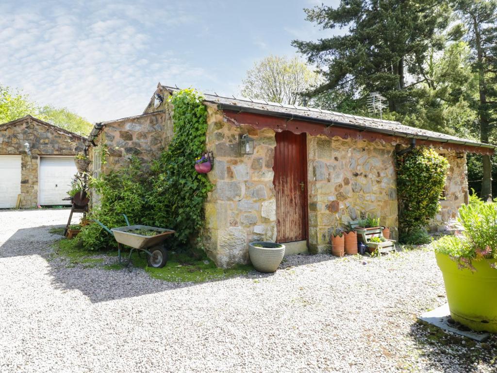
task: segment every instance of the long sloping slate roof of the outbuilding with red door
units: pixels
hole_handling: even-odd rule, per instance
[[[162,86],[162,88],[171,93],[179,91],[179,89],[173,87]],[[308,120],[313,122],[320,122],[324,125],[337,125],[349,128],[353,127],[362,130],[369,130],[373,132],[380,132],[394,136],[416,138],[421,140],[450,142],[454,144],[492,149],[497,148],[495,145],[491,144],[482,144],[470,139],[464,139],[444,133],[405,126],[402,123],[393,120],[368,118],[318,108],[287,105],[247,97],[223,97],[209,93],[203,93],[203,96],[204,101],[215,103],[221,109],[247,111],[265,115],[281,116],[291,119]]]

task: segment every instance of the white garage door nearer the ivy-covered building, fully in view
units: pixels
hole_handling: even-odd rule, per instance
[[[67,191],[71,189],[71,181],[77,172],[73,157],[41,157],[38,203],[69,204],[62,199],[68,197]]]

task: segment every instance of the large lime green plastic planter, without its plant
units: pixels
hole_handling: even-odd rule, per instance
[[[470,329],[497,333],[497,269],[490,267],[495,260],[473,261],[472,272],[458,269],[446,254],[435,256],[452,318]]]

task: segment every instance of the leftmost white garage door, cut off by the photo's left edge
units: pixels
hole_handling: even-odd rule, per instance
[[[15,207],[21,193],[21,156],[0,156],[0,208]]]

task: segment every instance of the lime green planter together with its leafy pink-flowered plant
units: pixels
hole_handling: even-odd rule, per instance
[[[464,231],[433,243],[450,315],[476,330],[497,333],[497,204],[463,205]]]

